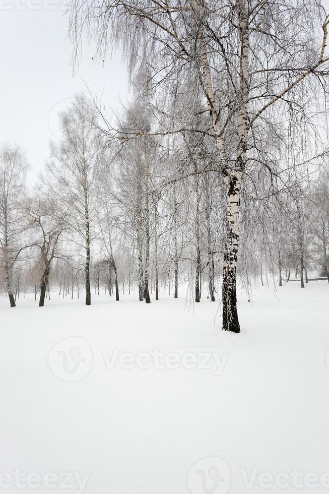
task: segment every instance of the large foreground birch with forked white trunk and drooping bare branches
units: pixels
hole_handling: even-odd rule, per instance
[[[316,103],[316,88],[326,85],[324,4],[313,0],[74,0],[70,11],[74,63],[86,30],[97,40],[96,56],[104,59],[109,44],[121,43],[131,71],[138,60],[147,63],[154,88],[163,90],[167,100],[173,84],[177,94],[182,74],[203,94],[207,129],[191,129],[193,118],[186,115],[184,125],[175,129],[172,125],[164,129],[163,121],[159,133],[206,133],[216,143],[218,173],[227,199],[223,329],[238,333],[236,264],[244,176],[249,163],[265,166],[258,151],[266,129],[282,124],[287,134],[297,120],[300,125],[300,115]],[[165,112],[162,106],[161,115]],[[289,114],[284,123],[282,114]],[[306,129],[306,119],[302,126]]]

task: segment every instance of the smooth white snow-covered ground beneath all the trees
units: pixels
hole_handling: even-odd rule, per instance
[[[92,302],[0,299],[0,492],[329,492],[327,283]]]

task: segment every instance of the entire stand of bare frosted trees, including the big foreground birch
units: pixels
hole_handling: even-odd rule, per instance
[[[22,153],[4,148],[11,304],[32,265],[41,305],[50,280],[81,283],[86,304],[91,284],[149,303],[185,281],[237,333],[237,280],[327,276],[324,3],[74,0],[69,14],[74,67],[86,34],[96,59],[118,45],[133,96],[116,116],[77,96],[32,197]]]

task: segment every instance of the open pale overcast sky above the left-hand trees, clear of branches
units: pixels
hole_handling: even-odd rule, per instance
[[[127,94],[127,77],[120,54],[104,64],[92,64],[85,48],[79,71],[70,67],[72,46],[68,18],[60,0],[0,0],[0,141],[19,144],[35,181],[48,157],[48,143],[58,136],[56,113],[70,98],[89,89],[112,107]]]

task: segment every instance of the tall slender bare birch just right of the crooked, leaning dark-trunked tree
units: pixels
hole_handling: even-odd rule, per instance
[[[62,140],[51,144],[52,160],[47,168],[55,179],[58,203],[67,213],[72,240],[85,250],[86,305],[90,305],[91,229],[96,217],[100,144],[92,124],[93,110],[84,96],[77,96],[59,117]]]

